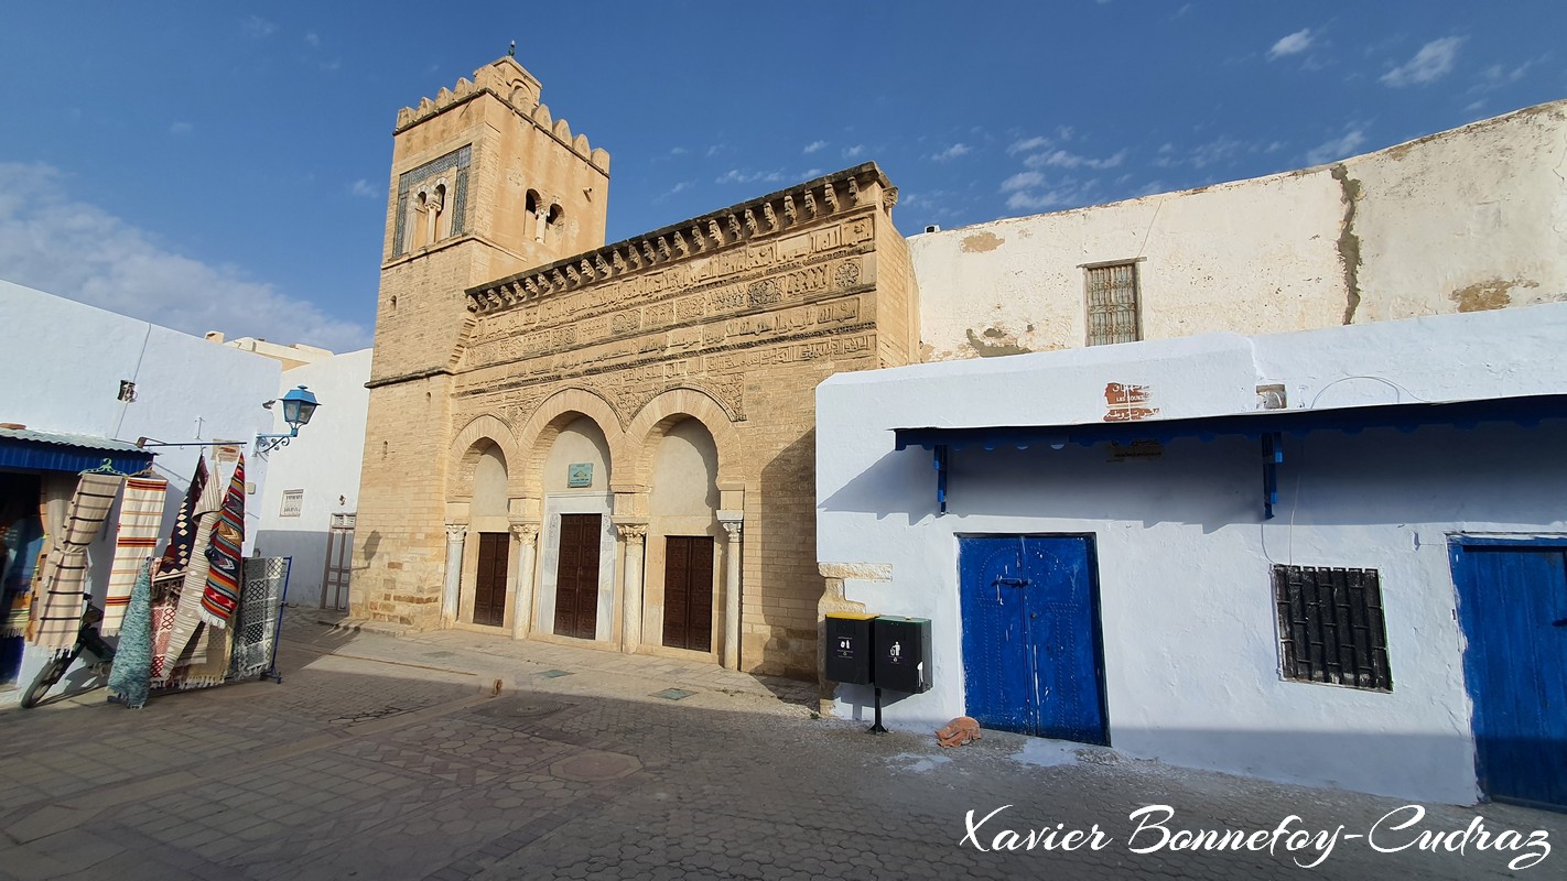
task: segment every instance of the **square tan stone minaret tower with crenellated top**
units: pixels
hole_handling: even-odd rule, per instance
[[[508,55],[398,111],[354,549],[359,615],[417,593],[439,617],[445,537],[428,524],[445,513],[464,291],[605,244],[610,153],[552,119],[539,91]]]

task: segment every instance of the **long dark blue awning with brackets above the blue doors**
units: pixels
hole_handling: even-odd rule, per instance
[[[893,443],[896,449],[918,446],[935,452],[935,504],[939,513],[946,513],[946,462],[953,449],[1062,449],[1070,443],[1094,446],[1106,441],[1120,444],[1156,441],[1163,444],[1178,438],[1211,441],[1219,437],[1239,435],[1261,441],[1263,518],[1266,520],[1272,516],[1272,505],[1279,501],[1277,468],[1283,462],[1282,438],[1287,433],[1296,437],[1324,430],[1359,433],[1366,429],[1413,432],[1426,426],[1473,429],[1481,423],[1534,427],[1543,419],[1567,419],[1567,394],[1487,397],[1446,404],[1377,404],[1324,410],[1257,410],[1224,416],[1125,423],[893,429]]]

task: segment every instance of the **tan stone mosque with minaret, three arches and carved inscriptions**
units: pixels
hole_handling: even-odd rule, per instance
[[[357,617],[815,678],[815,387],[918,360],[874,164],[605,244],[501,58],[395,128]]]

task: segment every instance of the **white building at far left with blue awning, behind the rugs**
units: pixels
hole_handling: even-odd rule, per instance
[[[139,469],[157,454],[155,473],[169,482],[165,521],[172,523],[204,448],[138,451],[139,438],[232,440],[249,454],[257,432],[273,430],[262,402],[277,394],[277,361],[9,282],[0,282],[0,423],[8,426],[0,429],[0,510],[36,512],[42,480],[74,480],[105,458]],[[249,457],[246,482],[254,490],[265,480],[266,462]],[[88,584],[99,601],[114,516],[89,549]],[[248,551],[257,523],[249,509]],[[0,643],[0,687],[30,681],[42,653],[24,656],[19,638]],[[14,695],[0,692],[0,701]]]

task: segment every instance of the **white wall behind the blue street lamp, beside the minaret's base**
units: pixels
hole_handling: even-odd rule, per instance
[[[326,537],[334,513],[359,509],[359,468],[365,452],[370,407],[370,349],[335,355],[284,371],[273,397],[307,387],[321,402],[310,424],[288,446],[268,454],[266,493],[260,504],[257,549],[263,557],[293,557],[288,602],[321,604]],[[273,407],[266,430],[284,433],[282,405]],[[284,493],[304,490],[299,516],[282,516]],[[345,595],[346,599],[346,595]]]

